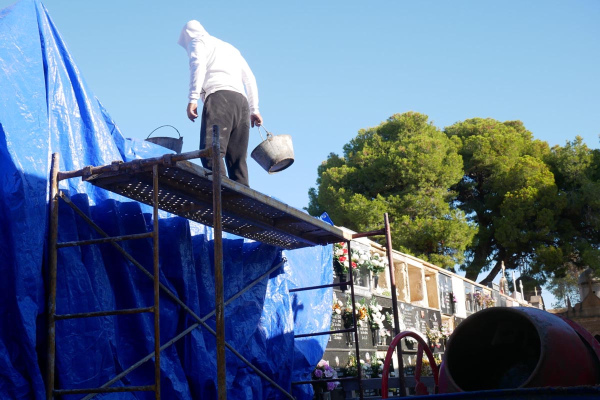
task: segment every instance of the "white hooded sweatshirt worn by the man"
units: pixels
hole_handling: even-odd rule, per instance
[[[248,99],[251,115],[259,113],[256,78],[238,49],[209,35],[196,20],[185,24],[177,43],[190,56],[189,103],[204,102],[209,94],[228,90]]]

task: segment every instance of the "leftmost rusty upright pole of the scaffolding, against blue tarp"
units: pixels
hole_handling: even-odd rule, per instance
[[[54,368],[56,355],[56,265],[58,257],[58,169],[60,155],[52,154],[50,167],[50,237],[48,240],[48,354],[46,399],[52,400],[54,391]]]

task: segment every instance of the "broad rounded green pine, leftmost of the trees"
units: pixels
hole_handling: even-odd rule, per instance
[[[388,212],[394,248],[452,269],[474,228],[450,191],[463,176],[457,144],[419,113],[397,114],[359,131],[319,167],[308,212],[326,210],[356,231],[382,227]]]

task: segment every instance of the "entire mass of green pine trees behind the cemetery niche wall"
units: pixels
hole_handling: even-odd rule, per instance
[[[330,154],[317,185],[311,215],[368,231],[388,212],[395,248],[460,264],[472,280],[483,272],[483,284],[501,261],[540,282],[600,269],[600,150],[580,137],[550,148],[520,121],[473,118],[442,132],[404,113]]]

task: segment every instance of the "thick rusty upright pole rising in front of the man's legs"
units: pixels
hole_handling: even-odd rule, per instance
[[[217,319],[217,390],[227,399],[225,363],[225,306],[223,293],[223,226],[221,221],[221,151],[219,127],[212,125],[212,219],[215,247],[215,318]]]

